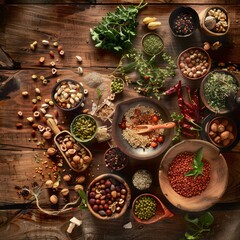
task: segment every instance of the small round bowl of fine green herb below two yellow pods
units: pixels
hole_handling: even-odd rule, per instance
[[[148,33],[142,39],[142,47],[145,53],[154,56],[162,52],[164,43],[159,35]]]

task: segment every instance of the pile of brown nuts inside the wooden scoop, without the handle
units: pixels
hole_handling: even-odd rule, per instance
[[[92,161],[90,151],[80,143],[77,143],[66,131],[57,135],[56,141],[67,163],[74,171],[81,172],[85,170]]]

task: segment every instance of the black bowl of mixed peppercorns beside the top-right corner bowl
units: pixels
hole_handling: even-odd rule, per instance
[[[174,36],[188,37],[198,29],[199,17],[191,7],[178,7],[170,14],[169,25]]]

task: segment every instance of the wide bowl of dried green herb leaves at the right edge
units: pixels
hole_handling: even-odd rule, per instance
[[[231,84],[231,87],[227,87],[229,84]],[[235,110],[238,106],[236,100],[239,92],[238,88],[238,79],[232,73],[215,70],[208,73],[202,80],[200,97],[203,104],[211,112],[226,114]],[[210,96],[210,99],[208,96]]]

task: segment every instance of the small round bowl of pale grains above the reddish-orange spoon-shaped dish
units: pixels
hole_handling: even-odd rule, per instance
[[[140,169],[134,173],[132,178],[133,186],[138,190],[146,190],[152,184],[152,175],[145,169]]]

